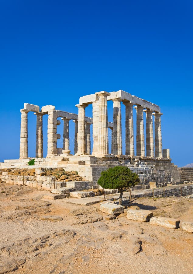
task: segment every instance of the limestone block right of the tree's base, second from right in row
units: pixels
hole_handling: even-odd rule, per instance
[[[151,217],[153,217],[153,213],[150,210],[129,209],[127,211],[127,219],[129,220],[148,222]]]

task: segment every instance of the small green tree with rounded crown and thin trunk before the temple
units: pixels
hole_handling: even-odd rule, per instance
[[[120,191],[119,205],[122,204],[123,188],[132,187],[140,182],[139,176],[126,166],[117,166],[101,172],[98,184],[102,188],[118,189]]]

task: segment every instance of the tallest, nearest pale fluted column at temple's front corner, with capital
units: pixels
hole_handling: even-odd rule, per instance
[[[98,154],[109,154],[107,96],[109,92],[96,92],[98,96]]]

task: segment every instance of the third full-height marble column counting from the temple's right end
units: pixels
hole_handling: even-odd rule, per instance
[[[137,113],[137,135],[136,135],[136,148],[137,156],[145,156],[145,143],[144,143],[144,124],[143,124],[143,107],[134,107]]]

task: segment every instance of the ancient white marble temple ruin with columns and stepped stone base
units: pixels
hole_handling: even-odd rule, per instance
[[[108,121],[107,101],[113,102],[113,121]],[[85,117],[85,108],[92,104],[92,118]],[[122,107],[122,104],[125,107]],[[182,170],[171,163],[169,149],[162,149],[160,107],[123,90],[96,92],[80,97],[78,114],[56,110],[54,106],[40,107],[24,104],[21,109],[21,135],[19,160],[5,160],[1,167],[27,167],[28,158],[28,112],[36,115],[36,153],[34,167],[62,167],[76,170],[89,185],[97,185],[102,170],[115,165],[126,165],[139,174],[141,187],[148,188],[150,181],[158,186],[192,180],[192,175],[182,176]],[[125,111],[125,136],[122,138],[121,118]],[[136,133],[133,129],[133,111],[136,111]],[[146,113],[144,121],[143,113]],[[48,114],[47,156],[43,158],[43,115]],[[64,123],[63,148],[57,148],[60,120]],[[69,121],[74,121],[74,155],[69,150]],[[146,140],[144,139],[146,123]],[[154,123],[154,126],[153,126]],[[91,151],[92,124],[93,148]],[[109,152],[108,128],[112,131]],[[154,132],[153,132],[154,128]],[[136,139],[134,138],[136,136]],[[134,150],[136,146],[136,155]],[[125,155],[123,155],[125,146]],[[146,147],[146,149],[145,149]],[[145,155],[146,151],[146,155]]]

